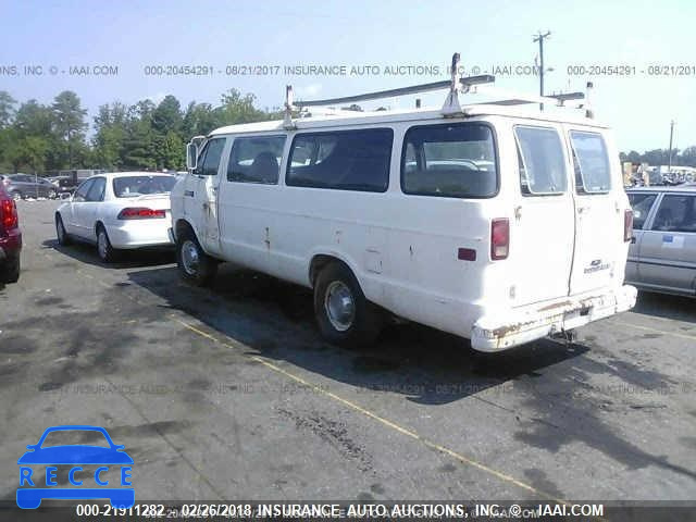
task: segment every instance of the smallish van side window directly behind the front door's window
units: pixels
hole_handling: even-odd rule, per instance
[[[227,181],[277,185],[285,136],[235,138],[227,163]]]

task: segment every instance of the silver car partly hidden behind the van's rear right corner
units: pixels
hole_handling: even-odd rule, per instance
[[[633,239],[626,283],[696,297],[696,185],[626,190]]]

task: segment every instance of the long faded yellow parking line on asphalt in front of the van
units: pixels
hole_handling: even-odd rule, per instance
[[[238,347],[237,343],[235,343],[233,339],[231,339],[231,340],[233,340],[233,344],[224,343],[224,341],[217,339],[216,337],[208,334],[207,332],[203,332],[202,330],[197,328],[196,326],[179,320],[178,318],[171,316],[171,319],[176,321],[177,323],[179,323],[182,326],[184,326],[184,327],[190,330],[191,332],[200,335],[201,337],[204,337],[204,338],[211,340],[214,344],[217,344],[217,345],[221,345],[221,346],[224,346],[224,347],[227,347],[227,348],[233,348],[233,349]],[[298,375],[295,375],[294,373],[290,373],[287,370],[284,370],[284,369],[277,366],[277,365],[273,364],[272,362],[266,361],[265,359],[263,359],[261,357],[248,356],[248,355],[245,355],[245,356],[250,358],[250,359],[252,359],[253,361],[257,361],[257,362],[263,364],[264,366],[266,366],[268,369],[270,369],[270,370],[272,370],[272,371],[274,371],[276,373],[285,375],[286,377],[288,377],[288,378],[290,378],[290,380],[293,380],[293,381],[295,381],[295,382],[297,382],[297,383],[299,383],[299,384],[301,384],[303,386],[307,386],[307,387],[311,388],[313,391],[315,391],[318,394],[324,395],[325,397],[328,397],[328,398],[333,399],[336,402],[340,402],[341,405],[347,406],[348,408],[350,408],[350,409],[352,409],[355,411],[358,411],[358,412],[369,417],[370,419],[373,419],[373,420],[380,422],[381,424],[383,424],[383,425],[385,425],[385,426],[387,426],[387,427],[400,433],[401,435],[406,435],[407,437],[410,437],[410,438],[412,438],[414,440],[418,440],[419,443],[421,443],[422,445],[426,446],[427,448],[431,448],[431,449],[434,449],[436,451],[439,451],[440,453],[448,455],[449,457],[452,457],[453,459],[460,461],[463,464],[468,464],[468,465],[476,468],[476,469],[478,469],[481,471],[484,471],[485,473],[488,473],[489,475],[493,475],[493,476],[495,476],[496,478],[499,478],[502,482],[507,482],[507,483],[513,484],[513,485],[515,485],[515,486],[518,486],[518,487],[520,487],[522,489],[526,489],[527,492],[533,493],[533,494],[535,494],[535,495],[537,495],[537,496],[539,496],[542,498],[545,498],[546,500],[551,500],[554,502],[563,504],[563,505],[567,505],[567,506],[571,505],[567,500],[563,500],[563,499],[560,499],[560,498],[556,498],[554,495],[550,495],[550,494],[548,494],[546,492],[537,489],[536,487],[531,486],[530,484],[526,484],[524,482],[521,482],[518,478],[515,478],[515,477],[513,477],[511,475],[508,475],[507,473],[502,473],[500,471],[494,470],[493,468],[489,468],[489,467],[487,467],[485,464],[482,464],[481,462],[478,462],[478,461],[476,461],[476,460],[474,460],[474,459],[472,459],[470,457],[467,457],[467,456],[464,456],[462,453],[459,453],[459,452],[457,452],[457,451],[455,451],[452,449],[449,449],[446,446],[442,446],[442,445],[439,445],[437,443],[433,443],[432,440],[428,440],[427,438],[423,437],[422,435],[419,435],[418,433],[415,433],[415,432],[413,432],[411,430],[402,427],[402,426],[398,425],[397,423],[395,423],[394,421],[385,419],[384,417],[381,417],[377,413],[374,413],[373,411],[370,411],[366,408],[352,402],[351,400],[345,399],[345,398],[343,398],[343,397],[340,397],[340,396],[338,396],[338,395],[336,395],[336,394],[334,394],[332,391],[328,391],[328,390],[322,388],[321,386],[312,384],[309,381],[307,381],[307,380],[304,380],[304,378],[302,378],[302,377],[300,377]]]

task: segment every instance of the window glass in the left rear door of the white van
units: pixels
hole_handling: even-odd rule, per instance
[[[558,132],[515,126],[520,187],[525,196],[562,194],[568,187],[563,148]]]

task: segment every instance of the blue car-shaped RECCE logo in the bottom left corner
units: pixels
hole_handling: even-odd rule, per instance
[[[103,438],[108,447],[70,444],[44,447],[46,437],[54,432],[83,432],[83,435]],[[97,432],[97,433],[95,433]],[[113,443],[107,430],[99,426],[53,426],[44,432],[37,444],[26,447],[20,464],[20,487],[17,506],[23,509],[36,509],[42,499],[91,500],[108,498],[114,508],[132,508],[135,504],[135,489],[132,487],[133,459],[124,451],[124,446]],[[40,484],[38,471],[46,465],[46,487]],[[65,476],[71,486],[58,487],[58,465],[70,467]],[[86,470],[83,467],[95,468]],[[116,468],[117,483],[113,487]],[[108,476],[108,477],[107,477]],[[91,485],[95,487],[90,487]],[[84,485],[84,487],[83,487]]]

